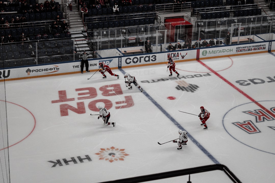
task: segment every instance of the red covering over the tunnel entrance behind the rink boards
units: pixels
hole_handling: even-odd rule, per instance
[[[169,22],[171,22],[170,24],[168,24]],[[188,21],[186,21],[183,18],[169,18],[169,19],[165,19],[164,21],[165,24],[165,28],[170,30],[171,35],[170,35],[170,41],[171,42],[176,42],[174,39],[175,37],[175,27],[178,25],[182,25],[185,26],[186,29],[191,28],[188,33],[192,33],[192,24]],[[185,33],[187,33],[187,31],[183,30]]]

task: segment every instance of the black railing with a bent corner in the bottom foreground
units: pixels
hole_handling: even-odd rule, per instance
[[[241,183],[241,181],[233,174],[225,165],[222,164],[215,164],[215,165],[206,165],[202,167],[195,167],[195,168],[187,168],[182,170],[175,170],[175,171],[167,171],[164,173],[156,173],[151,175],[144,175],[138,176],[133,178],[126,178],[126,179],[119,179],[115,181],[107,181],[108,183],[134,183],[134,182],[146,182],[146,181],[153,181],[158,179],[165,179],[183,175],[190,175],[194,173],[202,173],[206,171],[213,171],[213,170],[222,170],[234,183]],[[107,183],[107,182],[100,182],[100,183]]]

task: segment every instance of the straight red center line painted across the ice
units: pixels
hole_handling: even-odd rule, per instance
[[[272,113],[270,110],[266,109],[264,106],[262,106],[259,102],[255,101],[252,97],[250,97],[248,94],[244,93],[243,91],[241,91],[239,88],[237,88],[235,85],[233,85],[231,82],[229,82],[226,78],[222,77],[220,74],[218,74],[216,71],[214,71],[213,69],[211,69],[209,66],[207,66],[205,63],[203,63],[200,60],[197,60],[200,64],[202,64],[204,67],[206,67],[207,69],[209,69],[211,72],[213,72],[215,75],[217,75],[219,78],[221,78],[222,80],[224,80],[227,84],[229,84],[230,86],[232,86],[234,89],[236,89],[238,92],[240,92],[241,94],[243,94],[246,98],[248,98],[249,100],[251,100],[252,102],[254,102],[257,106],[259,106],[260,108],[262,108],[265,112],[267,112],[268,114],[270,114],[274,119],[275,119],[275,114]]]

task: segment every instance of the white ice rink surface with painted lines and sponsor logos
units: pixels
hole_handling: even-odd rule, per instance
[[[251,54],[6,81],[12,183],[94,183],[226,165],[243,183],[275,180],[275,55]],[[124,73],[144,89],[128,90]],[[105,106],[113,127],[97,119]],[[197,116],[210,112],[208,130]],[[183,112],[180,112],[183,111]],[[190,114],[187,114],[187,113]],[[178,129],[188,132],[177,150]],[[151,182],[187,182],[188,176]],[[221,171],[193,183],[230,182]]]

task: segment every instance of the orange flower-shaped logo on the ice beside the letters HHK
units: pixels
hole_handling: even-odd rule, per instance
[[[124,161],[125,156],[128,156],[129,154],[126,154],[124,152],[125,149],[118,149],[118,148],[100,148],[101,151],[99,153],[95,153],[98,155],[99,159],[105,159],[105,161],[113,162],[113,161]]]

